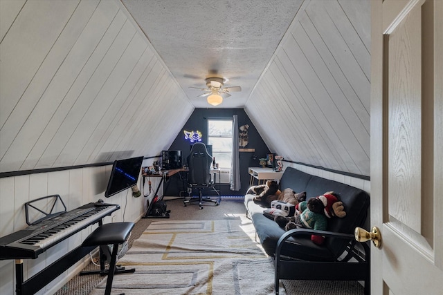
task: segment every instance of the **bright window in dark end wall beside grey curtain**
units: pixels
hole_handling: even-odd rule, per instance
[[[220,169],[230,169],[233,159],[233,120],[208,120],[208,144],[213,145],[213,157]]]

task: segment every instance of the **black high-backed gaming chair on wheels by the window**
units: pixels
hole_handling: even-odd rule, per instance
[[[212,200],[210,198],[203,198],[202,190],[206,187],[212,187],[214,184],[214,180],[211,177],[210,173],[210,165],[213,162],[213,158],[209,155],[206,150],[206,145],[197,142],[192,146],[191,152],[188,155],[188,192],[191,194],[192,189],[198,189],[199,196],[198,198],[190,196],[188,200],[183,201],[183,205],[186,207],[186,204],[193,201],[199,201],[200,209],[203,209],[202,202],[214,202],[215,206],[219,204],[219,200]]]

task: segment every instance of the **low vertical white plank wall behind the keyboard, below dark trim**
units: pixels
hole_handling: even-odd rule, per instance
[[[151,164],[151,163],[149,163]],[[98,198],[104,198],[103,187],[106,187],[111,166],[94,168],[73,169],[53,173],[37,173],[0,179],[0,230],[1,236],[11,234],[19,229],[27,227],[25,222],[24,203],[50,194],[60,194],[68,210],[80,207],[82,204],[94,202]],[[139,182],[141,183],[141,181]],[[156,187],[157,183],[153,182]],[[127,200],[126,200],[127,198]],[[132,198],[132,191],[120,193],[116,198],[106,200],[113,204],[120,204],[122,209],[116,211],[117,221],[136,221],[144,213],[145,198]],[[127,206],[126,210],[123,210]],[[3,212],[3,210],[5,210]],[[125,215],[123,216],[123,213]],[[124,218],[124,219],[123,219]],[[105,218],[110,222],[111,218]],[[3,226],[4,225],[4,226]],[[93,227],[96,227],[94,225]],[[49,263],[66,254],[67,251],[80,245],[82,240],[91,232],[91,228],[84,229],[75,236],[61,242],[50,250],[41,254],[37,259],[24,260],[24,276],[39,272]],[[11,260],[0,261],[0,291],[1,294],[13,294],[15,289],[14,263]],[[60,276],[60,281],[66,283],[76,272],[67,271]],[[11,283],[12,282],[12,283]],[[37,294],[47,294],[51,287],[57,283],[50,283]]]

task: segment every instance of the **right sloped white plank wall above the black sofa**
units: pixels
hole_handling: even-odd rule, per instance
[[[370,175],[370,1],[305,1],[245,111],[285,159]]]

